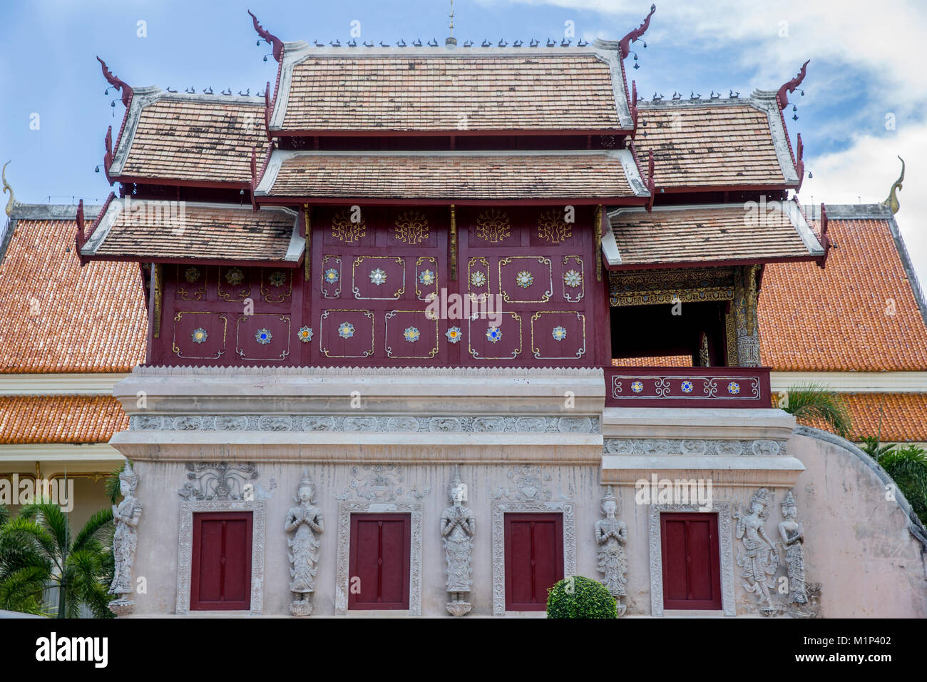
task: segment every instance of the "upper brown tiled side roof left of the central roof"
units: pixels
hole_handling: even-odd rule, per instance
[[[261,97],[137,88],[117,140],[113,179],[247,185],[251,149],[266,154]]]

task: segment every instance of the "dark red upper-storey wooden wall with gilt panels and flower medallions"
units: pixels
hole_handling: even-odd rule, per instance
[[[309,285],[303,267],[164,265],[160,334],[149,362],[607,365],[594,214],[577,206],[571,223],[563,206],[460,207],[451,279],[450,209],[364,207],[352,216],[349,208],[315,208]],[[426,315],[431,297],[438,314],[444,302],[454,317]],[[496,329],[486,316],[466,316],[485,313],[488,303],[500,315]],[[300,328],[311,329],[311,341],[300,339]],[[449,338],[452,328],[459,332]]]

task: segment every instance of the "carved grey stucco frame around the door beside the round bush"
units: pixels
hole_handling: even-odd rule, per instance
[[[505,615],[505,514],[509,512],[538,512],[563,514],[564,574],[576,575],[577,538],[576,509],[570,496],[561,493],[557,499],[549,483],[550,471],[530,464],[516,467],[506,474],[510,484],[499,486],[492,495],[492,614]]]

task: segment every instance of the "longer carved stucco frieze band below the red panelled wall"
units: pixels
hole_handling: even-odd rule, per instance
[[[133,415],[133,431],[597,433],[597,417],[386,417],[338,415]]]

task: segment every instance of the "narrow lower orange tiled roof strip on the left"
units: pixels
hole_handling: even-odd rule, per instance
[[[128,428],[111,395],[0,395],[0,444],[107,443]]]

